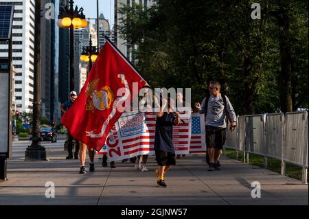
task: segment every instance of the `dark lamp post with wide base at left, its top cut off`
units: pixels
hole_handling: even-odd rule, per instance
[[[46,161],[46,150],[41,146],[41,0],[35,1],[34,27],[34,102],[32,118],[32,144],[25,150],[25,161]]]

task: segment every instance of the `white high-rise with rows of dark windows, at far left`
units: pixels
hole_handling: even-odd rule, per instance
[[[17,71],[14,78],[16,110],[30,112],[34,94],[34,0],[0,0],[0,5],[14,5],[12,56]],[[0,45],[0,57],[8,57],[7,45]]]

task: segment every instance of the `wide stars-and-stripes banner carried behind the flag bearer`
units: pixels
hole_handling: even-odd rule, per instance
[[[204,115],[193,113],[192,118],[182,121],[173,127],[176,154],[205,153]],[[155,154],[155,126],[155,113],[123,113],[99,154],[106,153],[110,161]]]

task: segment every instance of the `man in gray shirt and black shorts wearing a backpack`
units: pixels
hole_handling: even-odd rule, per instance
[[[227,119],[233,131],[237,125],[236,113],[226,95],[220,93],[219,82],[210,82],[209,93],[202,104],[195,103],[195,107],[205,114],[205,132],[207,156],[209,156],[209,171],[220,170],[218,160],[225,144]]]

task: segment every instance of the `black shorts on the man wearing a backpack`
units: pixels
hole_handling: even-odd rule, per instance
[[[217,148],[222,150],[227,139],[226,128],[218,128],[214,126],[206,126],[206,146],[207,148]]]

